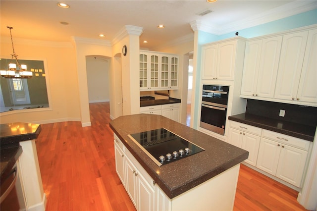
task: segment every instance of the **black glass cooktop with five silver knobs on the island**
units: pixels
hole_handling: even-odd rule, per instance
[[[159,166],[205,150],[165,128],[129,134],[128,137]]]

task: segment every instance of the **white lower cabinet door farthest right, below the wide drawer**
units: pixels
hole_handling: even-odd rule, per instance
[[[290,184],[300,187],[307,154],[308,153],[304,150],[282,145],[276,176]]]

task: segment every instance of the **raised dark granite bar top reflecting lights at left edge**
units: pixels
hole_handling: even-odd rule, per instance
[[[41,132],[41,125],[15,122],[0,125],[1,149],[17,147],[20,141],[36,139]]]

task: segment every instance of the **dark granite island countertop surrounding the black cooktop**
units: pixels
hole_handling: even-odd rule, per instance
[[[162,127],[199,145],[205,151],[158,166],[127,136]],[[237,165],[249,156],[249,152],[245,150],[161,115],[120,116],[110,122],[110,128],[170,199]]]

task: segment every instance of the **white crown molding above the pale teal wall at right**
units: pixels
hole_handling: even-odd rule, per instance
[[[214,35],[223,35],[233,31],[247,29],[264,23],[272,22],[292,15],[317,9],[316,1],[295,0],[255,16],[234,21],[224,25],[215,25],[200,20],[190,22],[193,31],[204,31]]]

